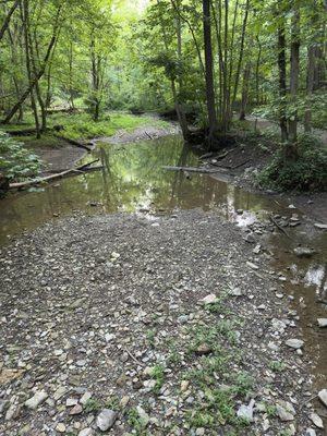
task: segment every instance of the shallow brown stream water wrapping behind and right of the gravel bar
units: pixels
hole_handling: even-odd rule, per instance
[[[0,201],[0,245],[25,230],[74,211],[167,214],[199,207],[241,227],[271,214],[289,218],[296,213],[302,223],[287,229],[291,238],[276,231],[268,234],[265,244],[272,253],[271,266],[286,277],[286,293],[294,298],[305,353],[311,353],[314,362],[316,387],[327,388],[327,329],[317,327],[317,318],[327,317],[327,302],[319,302],[327,299],[327,232],[316,230],[301,210],[289,208],[280,199],[253,194],[208,174],[190,173],[189,178],[164,170],[162,166],[198,166],[198,157],[178,135],[134,144],[99,144],[88,158],[99,158],[104,169]],[[238,214],[239,209],[244,213]],[[293,254],[299,244],[315,249],[317,254],[299,259]]]

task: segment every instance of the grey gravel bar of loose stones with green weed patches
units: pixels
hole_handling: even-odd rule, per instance
[[[323,435],[298,314],[249,232],[74,216],[2,247],[0,434]]]

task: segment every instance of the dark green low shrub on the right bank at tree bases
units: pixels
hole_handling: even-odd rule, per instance
[[[302,135],[298,143],[298,158],[286,159],[280,146],[272,160],[257,174],[263,187],[276,191],[308,191],[327,187],[327,153],[311,135]]]

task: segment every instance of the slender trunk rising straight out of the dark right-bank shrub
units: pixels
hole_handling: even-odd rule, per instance
[[[291,41],[291,72],[290,72],[290,95],[291,102],[294,107],[292,117],[289,119],[289,140],[293,144],[290,153],[296,154],[294,144],[298,141],[298,110],[296,98],[299,89],[299,73],[300,73],[300,11],[294,10],[292,17],[292,41]]]

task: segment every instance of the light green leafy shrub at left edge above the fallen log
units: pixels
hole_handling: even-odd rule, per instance
[[[9,180],[34,177],[40,167],[39,158],[24,144],[0,131],[0,173]]]

